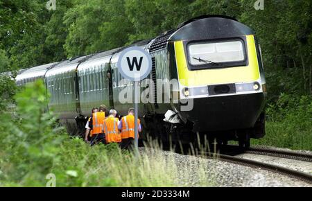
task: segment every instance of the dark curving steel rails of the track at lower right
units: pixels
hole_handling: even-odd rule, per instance
[[[237,147],[238,146],[232,146]],[[245,150],[245,153],[250,153],[254,155],[268,155],[272,157],[282,157],[287,159],[295,159],[300,161],[308,161],[312,162],[312,155],[305,154],[305,153],[298,153],[298,152],[292,152],[292,151],[286,151],[286,150],[272,150],[268,148],[250,148],[248,150]],[[309,173],[303,173],[302,171],[296,171],[291,168],[286,168],[283,166],[277,166],[274,164],[268,164],[263,163],[261,161],[256,161],[252,159],[244,159],[241,157],[235,157],[232,155],[226,155],[226,154],[219,154],[219,153],[213,153],[213,152],[201,152],[202,155],[205,157],[208,157],[210,159],[218,159],[220,161],[227,161],[232,164],[239,164],[242,166],[249,166],[251,168],[261,168],[266,171],[271,171],[274,173],[279,173],[282,175],[286,175],[288,177],[293,177],[298,180],[302,180],[304,182],[307,182],[309,184],[312,184],[312,175]],[[312,165],[312,164],[311,164]]]

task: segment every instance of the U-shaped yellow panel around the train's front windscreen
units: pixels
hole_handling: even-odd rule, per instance
[[[254,35],[246,35],[248,66],[190,71],[182,41],[175,42],[177,75],[180,84],[187,87],[216,85],[223,83],[252,82],[260,78]]]

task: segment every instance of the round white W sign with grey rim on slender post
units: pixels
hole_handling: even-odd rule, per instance
[[[124,49],[119,55],[117,67],[121,76],[134,82],[135,88],[135,152],[139,149],[139,134],[138,134],[138,103],[140,97],[139,82],[146,78],[152,70],[152,58],[150,54],[138,46],[132,46]]]

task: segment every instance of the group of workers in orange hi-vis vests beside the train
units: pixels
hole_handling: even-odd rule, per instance
[[[130,148],[135,139],[135,110],[131,107],[128,115],[123,116],[119,121],[116,118],[116,110],[110,110],[108,116],[105,105],[92,109],[90,117],[85,125],[85,141],[91,146],[96,143],[119,143],[121,148]],[[141,123],[137,119],[138,132],[141,132]]]

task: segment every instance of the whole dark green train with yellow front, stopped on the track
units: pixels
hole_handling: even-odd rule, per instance
[[[150,74],[140,82],[141,93],[147,90],[149,100],[138,106],[142,139],[150,136],[182,144],[234,140],[248,148],[250,139],[265,135],[267,91],[261,47],[254,30],[245,24],[232,17],[205,15],[129,46],[145,49],[153,61]],[[121,52],[129,46],[31,67],[15,80],[19,86],[44,80],[51,94],[47,110],[53,110],[70,134],[81,134],[92,107],[104,104],[120,116],[132,107],[133,103],[119,100],[121,91],[125,87],[132,91],[134,85],[117,67]],[[147,80],[153,85],[146,85]],[[155,87],[162,80],[175,80],[175,86]],[[188,104],[190,110],[184,110]]]

